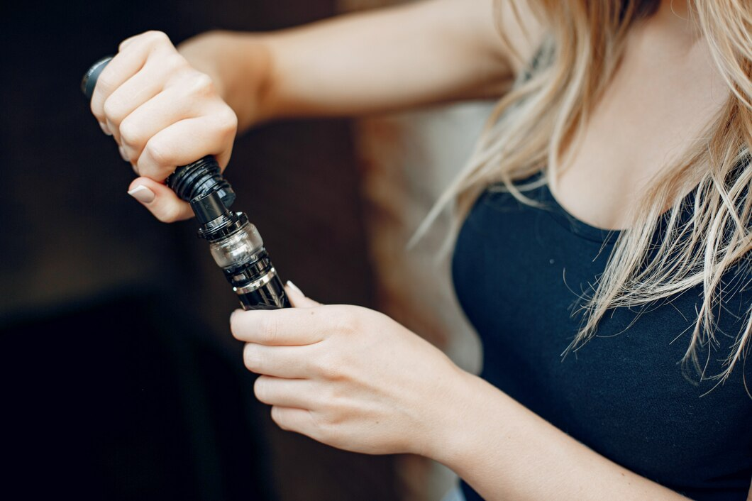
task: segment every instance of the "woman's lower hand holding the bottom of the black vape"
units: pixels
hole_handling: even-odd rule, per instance
[[[287,293],[296,308],[230,320],[274,422],[348,451],[430,455],[461,370],[384,314]]]

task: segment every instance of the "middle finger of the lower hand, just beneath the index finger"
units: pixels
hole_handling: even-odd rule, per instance
[[[250,372],[276,378],[305,378],[311,375],[308,346],[266,346],[246,343],[243,362]]]

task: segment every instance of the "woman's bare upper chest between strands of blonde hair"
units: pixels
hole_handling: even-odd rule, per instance
[[[635,29],[562,159],[556,198],[594,226],[628,226],[650,181],[703,140],[728,95],[705,41],[684,47]]]

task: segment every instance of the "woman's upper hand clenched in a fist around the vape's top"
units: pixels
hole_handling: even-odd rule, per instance
[[[238,120],[211,78],[193,68],[167,35],[128,38],[97,80],[91,109],[140,177],[129,193],[159,220],[193,216],[163,184],[177,165],[205,155],[229,162]]]

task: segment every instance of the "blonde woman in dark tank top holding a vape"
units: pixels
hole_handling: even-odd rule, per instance
[[[177,50],[148,32],[92,111],[174,221],[161,181],[226,165],[238,128],[503,95],[432,213],[465,220],[487,381],[289,284],[296,308],[231,317],[256,396],[329,445],[432,457],[467,499],[749,499],[750,30],[746,0],[434,0]]]

